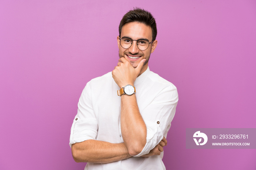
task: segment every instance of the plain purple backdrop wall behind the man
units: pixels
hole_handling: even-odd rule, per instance
[[[70,170],[77,103],[114,69],[122,16],[151,11],[150,70],[177,86],[167,169],[256,169],[253,149],[186,149],[186,128],[255,128],[256,1],[0,1],[0,169]],[[105,42],[105,43],[101,43]]]

